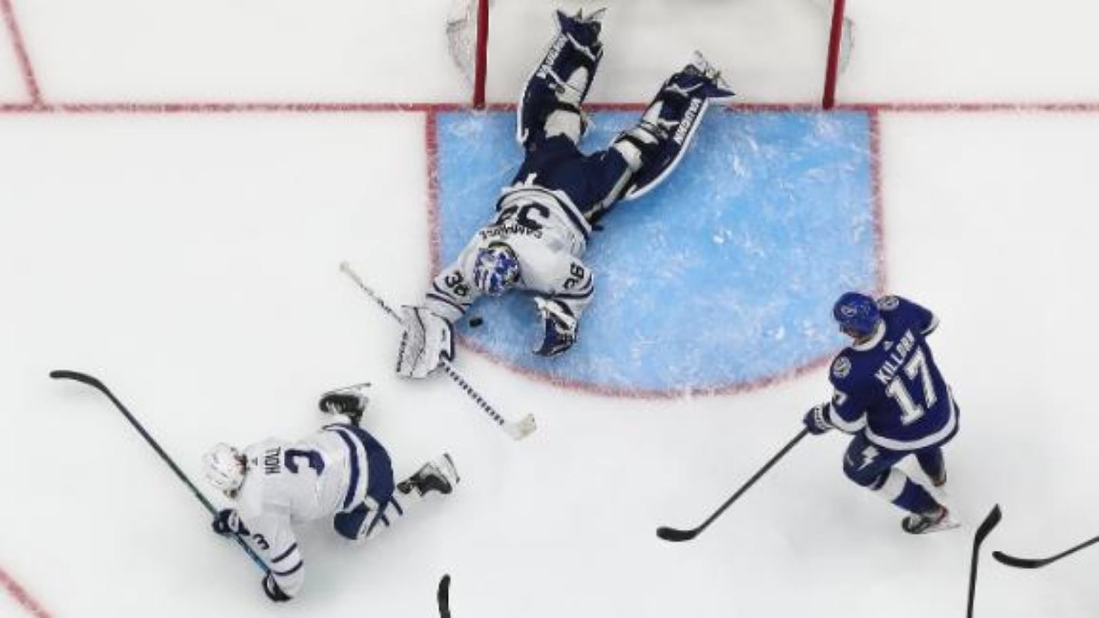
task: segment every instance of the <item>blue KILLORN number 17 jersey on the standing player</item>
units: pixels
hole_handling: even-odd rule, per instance
[[[832,362],[825,418],[892,451],[941,444],[957,430],[957,407],[925,341],[939,320],[896,296],[878,299],[878,309],[881,322],[870,339]]]

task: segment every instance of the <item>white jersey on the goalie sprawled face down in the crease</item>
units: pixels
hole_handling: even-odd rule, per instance
[[[496,210],[493,221],[435,277],[424,305],[451,322],[460,318],[481,294],[473,283],[477,252],[502,241],[519,260],[515,287],[558,300],[579,319],[595,290],[591,271],[580,260],[591,224],[564,191],[533,183],[503,189]]]

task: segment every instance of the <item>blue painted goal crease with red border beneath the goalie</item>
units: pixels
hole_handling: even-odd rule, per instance
[[[593,114],[593,151],[636,121]],[[479,301],[463,333],[509,364],[618,390],[724,389],[790,373],[840,347],[830,308],[877,282],[870,123],[864,112],[730,112],[703,121],[668,180],[618,205],[585,261],[595,300],[579,342],[531,353],[529,297]],[[522,153],[508,112],[439,117],[441,258],[492,214]]]

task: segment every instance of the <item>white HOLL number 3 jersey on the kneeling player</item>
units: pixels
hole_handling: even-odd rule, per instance
[[[291,523],[355,507],[366,497],[366,446],[346,426],[328,426],[289,442],[265,440],[244,450],[247,474],[236,501],[245,538],[279,587],[295,596],[304,563]]]

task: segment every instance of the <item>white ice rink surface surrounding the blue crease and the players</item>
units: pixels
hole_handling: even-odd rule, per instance
[[[646,101],[696,46],[743,104],[819,96],[811,3],[584,3],[599,4],[595,101]],[[552,7],[496,4],[490,100],[518,92]],[[459,351],[501,411],[537,416],[515,443],[448,380],[398,380],[397,328],[337,272],[352,261],[393,302],[424,291],[421,103],[468,98],[447,10],[0,0],[0,616],[417,618],[437,615],[444,573],[456,618],[962,616],[993,504],[988,549],[1044,556],[1099,533],[1092,3],[848,2],[837,98],[872,115],[886,289],[942,319],[931,344],[962,408],[946,457],[963,527],[903,534],[900,511],[844,478],[830,434],[679,545],[656,527],[693,526],[792,438],[829,396],[823,369],[609,397]],[[110,402],[54,368],[102,378],[203,489],[211,444],[303,435],[323,421],[320,391],[364,379],[365,424],[397,474],[447,451],[463,484],[366,547],[307,528],[306,587],[276,607]],[[976,615],[1099,615],[1094,552],[1033,572],[986,552]]]

